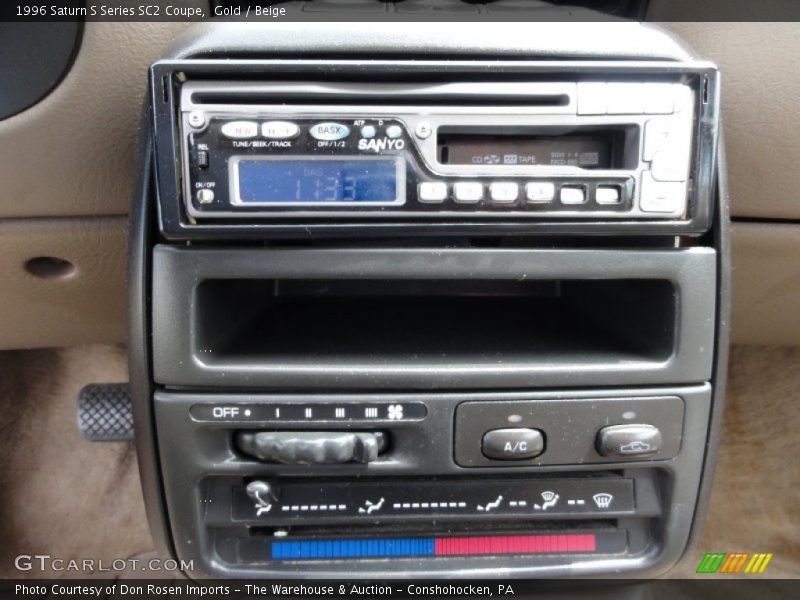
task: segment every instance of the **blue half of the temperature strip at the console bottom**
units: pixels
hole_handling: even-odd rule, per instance
[[[273,560],[435,556],[435,538],[272,542]]]

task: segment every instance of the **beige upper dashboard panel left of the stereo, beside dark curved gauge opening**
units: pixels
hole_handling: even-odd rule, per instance
[[[147,67],[187,23],[86,23],[72,70],[0,121],[0,219],[127,214]]]

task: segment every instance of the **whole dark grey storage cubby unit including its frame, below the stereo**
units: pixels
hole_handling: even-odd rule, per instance
[[[156,381],[526,389],[710,376],[715,255],[692,249],[196,249],[153,260]]]

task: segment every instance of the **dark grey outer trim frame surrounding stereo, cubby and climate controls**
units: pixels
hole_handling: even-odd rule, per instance
[[[396,25],[391,25],[396,27]],[[416,26],[416,25],[415,25]],[[159,422],[156,428],[156,405],[153,395],[157,389],[163,389],[156,384],[153,378],[154,361],[152,355],[151,336],[154,333],[152,323],[152,313],[150,307],[154,301],[152,297],[152,260],[153,248],[158,236],[159,225],[162,231],[168,230],[171,233],[166,235],[170,241],[181,241],[187,239],[195,240],[222,240],[233,242],[234,240],[248,241],[262,237],[263,234],[256,232],[253,228],[246,226],[234,227],[223,230],[220,227],[208,226],[195,230],[199,235],[190,235],[177,218],[177,212],[171,212],[170,203],[178,198],[179,185],[177,181],[157,180],[156,171],[162,169],[166,161],[172,160],[168,152],[164,152],[169,144],[174,144],[164,137],[158,140],[153,137],[153,115],[159,114],[160,117],[170,119],[167,106],[171,101],[171,94],[174,93],[172,87],[175,80],[171,79],[173,73],[182,73],[192,77],[221,78],[244,76],[245,78],[255,78],[263,75],[265,69],[272,72],[307,75],[309,73],[322,76],[330,73],[331,69],[353,69],[354,72],[370,74],[381,74],[391,77],[394,73],[438,73],[445,69],[448,73],[464,74],[467,77],[474,75],[481,70],[482,72],[493,71],[501,75],[513,73],[529,73],[536,69],[541,69],[543,73],[557,74],[559,72],[568,73],[588,73],[592,70],[603,73],[618,73],[622,76],[630,74],[636,69],[639,73],[657,75],[675,72],[676,69],[685,67],[686,69],[700,69],[703,65],[713,70],[713,66],[701,61],[692,60],[688,50],[680,46],[677,42],[669,38],[656,28],[636,25],[635,28],[642,31],[633,38],[629,36],[615,36],[615,39],[608,40],[608,44],[598,43],[599,40],[606,39],[607,35],[603,32],[597,37],[580,36],[580,40],[575,42],[565,42],[567,37],[564,31],[559,30],[559,24],[547,24],[549,29],[554,29],[551,34],[542,38],[532,39],[529,33],[525,36],[519,34],[503,33],[502,39],[493,36],[491,43],[481,50],[478,54],[473,47],[470,47],[466,39],[462,39],[463,32],[442,32],[445,42],[436,36],[420,36],[418,33],[410,34],[406,32],[400,36],[398,42],[393,36],[386,35],[385,43],[382,43],[381,50],[384,52],[401,51],[407,56],[431,56],[436,52],[441,56],[456,57],[456,60],[440,61],[398,61],[392,59],[363,60],[367,44],[374,44],[376,32],[373,28],[362,31],[357,35],[352,35],[350,31],[346,33],[336,33],[333,39],[326,35],[311,34],[301,31],[293,24],[281,24],[282,29],[272,29],[274,35],[264,35],[266,28],[245,27],[237,24],[204,24],[196,26],[191,32],[174,48],[171,53],[173,57],[169,61],[164,61],[153,67],[151,71],[151,94],[146,99],[145,119],[140,130],[143,132],[142,154],[137,173],[141,175],[140,185],[134,199],[134,206],[131,211],[131,268],[129,285],[129,311],[130,311],[130,336],[129,336],[129,360],[130,376],[134,406],[134,418],[136,422],[136,445],[139,457],[139,468],[142,475],[145,502],[147,506],[147,516],[151,524],[153,539],[156,549],[162,557],[186,558],[191,554],[186,549],[186,534],[195,526],[193,521],[185,522],[186,512],[180,510],[167,511],[168,502],[172,501],[170,490],[180,482],[172,481],[175,471],[167,463],[162,463],[162,453],[169,452],[169,448],[178,444],[178,435],[173,431],[169,422]],[[288,29],[286,29],[288,27]],[[384,26],[385,27],[385,26]],[[607,27],[607,25],[605,26]],[[527,29],[527,25],[526,25]],[[562,26],[562,29],[565,27]],[[384,30],[388,33],[389,30]],[[596,32],[599,33],[599,32]],[[338,36],[338,38],[337,38]],[[352,39],[348,39],[348,36]],[[554,40],[562,38],[557,43]],[[634,41],[635,40],[635,41]],[[611,52],[603,54],[603,50],[598,52],[598,48]],[[339,56],[357,57],[357,60],[319,60],[317,57],[325,53],[335,52]],[[360,54],[359,54],[360,53]],[[505,59],[494,61],[487,57],[505,56]],[[306,59],[298,57],[307,56]],[[478,60],[463,60],[462,57],[472,55]],[[253,56],[281,56],[292,58],[279,58],[276,60],[263,61],[242,59],[242,57]],[[372,55],[374,56],[374,55]],[[508,60],[508,57],[519,57],[522,60]],[[555,61],[556,56],[567,56],[570,60]],[[606,56],[605,60],[594,60],[594,57]],[[212,57],[207,59],[207,57]],[[543,58],[543,61],[531,60],[531,58]],[[235,60],[231,60],[234,58]],[[613,60],[609,60],[609,58]],[[199,59],[199,60],[198,60]],[[166,63],[171,63],[170,65]],[[449,66],[452,65],[452,70]],[[173,69],[174,67],[174,69]],[[416,69],[416,70],[415,70]],[[164,78],[167,76],[167,79]],[[709,90],[712,99],[711,113],[716,119],[718,111],[718,79],[712,77],[709,82]],[[706,139],[708,143],[716,144],[716,137]],[[165,146],[166,144],[166,146]],[[716,155],[715,155],[716,159]],[[163,171],[162,171],[163,173]],[[576,560],[568,566],[555,567],[543,564],[538,567],[530,566],[529,558],[512,557],[505,564],[508,564],[512,571],[503,571],[504,576],[546,576],[546,577],[581,577],[608,575],[611,573],[631,573],[635,576],[657,576],[662,574],[667,568],[673,565],[687,548],[687,540],[690,544],[692,539],[699,534],[699,524],[709,499],[711,488],[711,477],[713,474],[713,464],[716,448],[719,442],[722,413],[724,409],[724,386],[727,362],[727,343],[729,325],[729,256],[728,256],[728,196],[725,179],[725,160],[724,153],[720,150],[720,159],[708,165],[706,179],[702,182],[708,185],[713,193],[713,202],[707,207],[710,218],[714,214],[711,230],[705,232],[701,243],[714,247],[717,254],[713,259],[715,271],[710,273],[710,281],[716,284],[716,289],[712,291],[715,298],[715,308],[711,315],[709,327],[713,333],[713,345],[705,349],[711,369],[709,381],[713,387],[711,402],[708,410],[704,414],[687,415],[692,425],[691,431],[687,434],[694,436],[698,441],[697,451],[691,457],[678,456],[669,464],[664,465],[663,472],[671,474],[682,472],[687,476],[689,472],[696,474],[694,484],[687,484],[683,487],[683,495],[676,499],[680,506],[685,509],[681,512],[682,520],[680,526],[668,527],[665,531],[667,536],[668,551],[660,553],[659,549],[653,547],[651,551],[642,555],[635,561],[609,559],[602,565],[593,563],[590,560]],[[159,206],[159,196],[164,202]],[[165,209],[166,207],[166,209]],[[177,209],[176,209],[177,210]],[[565,224],[560,223],[540,223],[535,227],[529,225],[522,227],[519,224],[500,223],[498,227],[485,229],[481,234],[491,235],[513,235],[521,233],[536,233],[541,235],[562,234],[567,231]],[[672,224],[649,224],[649,223],[617,223],[607,224],[609,233],[619,235],[650,234],[660,233],[665,235],[677,235],[685,231]],[[419,224],[386,224],[373,229],[372,234],[368,234],[363,227],[358,224],[343,224],[341,228],[332,230],[324,226],[314,227],[295,227],[279,226],[270,231],[269,236],[278,237],[342,237],[348,236],[364,237],[367,235],[402,235],[403,237],[425,235],[427,226]],[[571,234],[589,233],[590,228],[580,224],[571,224],[568,231]],[[472,223],[452,223],[436,228],[435,233],[440,236],[448,235],[475,235]],[[697,235],[704,233],[700,230],[694,232]],[[164,241],[161,238],[160,241]],[[355,241],[355,240],[353,240]],[[185,305],[178,307],[185,310]],[[216,389],[219,386],[214,385]],[[678,388],[667,388],[657,386],[653,388],[628,389],[627,392],[647,393],[649,391],[658,394],[677,392]],[[613,391],[614,393],[619,390]],[[177,414],[177,413],[176,413]],[[160,435],[159,435],[160,431]],[[706,439],[706,436],[707,439]],[[702,444],[700,443],[702,442]],[[702,448],[701,448],[702,446]],[[185,454],[185,448],[173,448],[175,456]],[[162,473],[162,468],[164,473]],[[586,467],[588,470],[590,467]],[[537,467],[531,472],[545,472],[546,469]],[[633,469],[632,469],[633,470]],[[248,476],[250,470],[243,470],[241,474]],[[165,478],[165,476],[168,477]],[[194,486],[196,481],[191,474],[177,472],[177,476],[185,486]],[[694,475],[693,475],[694,476]],[[190,481],[191,480],[191,481]],[[169,488],[169,489],[168,489]],[[188,489],[188,488],[185,488]],[[185,492],[184,489],[184,492]],[[192,501],[196,500],[194,496]],[[684,502],[685,501],[685,502]],[[192,505],[194,506],[194,504]],[[671,540],[671,541],[670,541]],[[176,548],[177,544],[177,548]],[[194,551],[199,552],[195,547]],[[188,552],[188,553],[187,553]],[[206,558],[210,561],[207,562]],[[406,563],[409,564],[409,563]],[[422,568],[424,565],[417,562],[413,567]],[[208,573],[223,573],[218,557],[204,557],[200,562],[196,562],[196,567],[201,571],[188,573],[190,577],[209,576]],[[464,567],[464,571],[459,574],[471,576],[497,576],[498,569],[493,564],[490,567],[481,566],[479,562],[469,562],[462,559],[451,560],[443,559],[443,562],[436,564],[436,570],[424,571],[432,577],[453,577],[453,569]],[[602,568],[602,573],[597,569]],[[205,574],[202,571],[205,571]],[[419,571],[418,571],[419,572]],[[239,570],[237,572],[224,571],[226,575],[241,576],[264,576],[263,571],[253,572]],[[274,573],[281,576],[281,573]],[[294,575],[297,573],[295,572]],[[359,573],[362,574],[362,573]],[[371,574],[363,573],[365,576],[387,577],[385,572],[373,571]],[[324,568],[315,570],[313,576],[329,577],[352,577],[351,572],[342,573],[335,568]],[[392,577],[407,577],[409,571],[392,573]],[[286,576],[285,573],[282,576]]]

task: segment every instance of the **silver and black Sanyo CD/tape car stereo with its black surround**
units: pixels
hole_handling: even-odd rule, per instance
[[[162,198],[162,229],[701,233],[716,71],[678,71],[380,84],[162,77],[177,101],[175,159],[160,164],[175,169],[181,197],[169,211]]]

